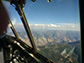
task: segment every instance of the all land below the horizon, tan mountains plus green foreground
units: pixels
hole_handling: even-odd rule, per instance
[[[18,35],[30,45],[24,31],[18,31]],[[81,63],[79,31],[32,30],[32,35],[38,51],[48,59],[55,63]],[[65,54],[61,54],[65,49]]]

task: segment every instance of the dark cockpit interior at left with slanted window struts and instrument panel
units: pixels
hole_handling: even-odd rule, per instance
[[[6,0],[9,1],[9,0]],[[35,46],[29,25],[27,23],[23,7],[26,0],[10,0],[10,4],[15,5],[15,10],[18,12],[24,25],[27,36],[30,39],[32,47],[24,43],[16,33],[12,22],[9,19],[7,11],[0,0],[0,49],[3,51],[4,63],[53,63],[40,53]],[[31,0],[35,2],[36,0]],[[51,0],[48,0],[50,2]],[[10,28],[15,37],[6,34],[6,29],[10,24]]]

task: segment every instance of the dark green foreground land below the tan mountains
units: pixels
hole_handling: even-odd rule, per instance
[[[68,56],[61,55],[61,52],[66,48],[68,54],[73,48],[72,44],[60,44],[60,45],[46,45],[39,46],[38,50],[41,54],[46,56],[49,59],[52,59],[55,63],[80,63],[80,43],[74,44],[75,49],[73,53]]]

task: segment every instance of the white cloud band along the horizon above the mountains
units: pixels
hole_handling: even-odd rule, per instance
[[[56,24],[29,24],[31,29],[44,29],[44,30],[72,30],[79,31],[79,24],[73,23],[56,23]],[[21,23],[14,24],[15,28],[23,28]]]

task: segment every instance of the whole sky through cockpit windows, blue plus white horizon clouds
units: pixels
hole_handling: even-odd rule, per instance
[[[19,15],[13,6],[3,2],[14,25],[21,27]],[[79,30],[78,0],[26,1],[24,12],[33,29]],[[20,25],[18,25],[20,24]]]

